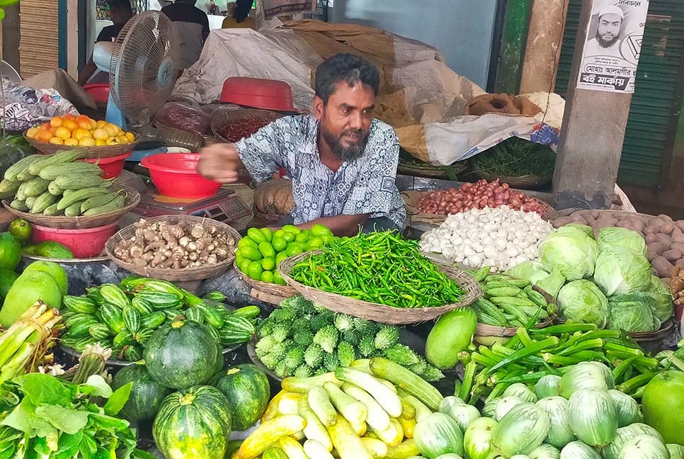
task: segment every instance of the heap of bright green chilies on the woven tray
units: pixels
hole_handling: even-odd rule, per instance
[[[464,290],[420,254],[418,241],[391,231],[334,239],[292,267],[304,285],[393,307],[438,307]]]

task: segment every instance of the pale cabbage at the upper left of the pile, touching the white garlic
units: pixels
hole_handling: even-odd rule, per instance
[[[546,271],[559,271],[567,280],[590,277],[596,261],[596,242],[581,229],[561,227],[544,239],[539,256]]]

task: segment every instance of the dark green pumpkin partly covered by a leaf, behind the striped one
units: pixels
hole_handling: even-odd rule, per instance
[[[154,419],[161,402],[171,389],[153,380],[144,362],[133,363],[119,370],[114,376],[112,387],[117,390],[128,382],[132,382],[133,387],[120,415],[129,421]]]

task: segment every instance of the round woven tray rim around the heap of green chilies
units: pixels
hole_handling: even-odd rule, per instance
[[[445,312],[455,310],[458,307],[467,306],[482,295],[482,290],[479,283],[477,283],[477,280],[472,278],[472,276],[469,276],[467,273],[458,268],[445,266],[439,263],[435,263],[439,270],[445,273],[448,278],[454,280],[454,282],[460,285],[460,287],[465,291],[465,295],[459,302],[439,307],[392,307],[380,305],[379,303],[375,302],[356,300],[355,298],[338,295],[337,293],[324,292],[323,290],[318,290],[317,288],[308,287],[307,285],[299,283],[297,280],[294,280],[290,277],[292,266],[295,266],[295,264],[299,263],[300,261],[307,259],[309,256],[320,253],[320,250],[314,250],[304,252],[303,254],[290,256],[290,258],[280,261],[280,265],[278,265],[278,272],[280,273],[280,276],[283,277],[285,282],[287,282],[287,285],[294,287],[295,290],[306,297],[307,300],[316,302],[317,304],[334,312],[343,312],[355,317],[360,317],[361,319],[381,322],[383,324],[418,324],[421,322],[427,322],[428,320],[436,319]]]

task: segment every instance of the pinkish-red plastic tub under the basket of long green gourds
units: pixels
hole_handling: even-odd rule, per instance
[[[105,248],[107,239],[113,236],[117,222],[109,225],[85,229],[59,229],[33,225],[31,239],[34,244],[43,241],[59,242],[67,246],[77,259],[97,256]]]

